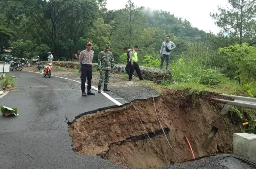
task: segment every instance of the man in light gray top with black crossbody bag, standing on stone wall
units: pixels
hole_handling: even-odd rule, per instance
[[[170,36],[166,36],[166,42],[162,43],[160,56],[161,56],[161,64],[160,69],[163,70],[163,62],[166,60],[166,70],[169,70],[169,62],[171,58],[171,50],[176,48],[175,44],[170,41]]]

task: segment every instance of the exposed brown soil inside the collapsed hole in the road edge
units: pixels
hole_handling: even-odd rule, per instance
[[[240,132],[239,126],[233,126],[233,131],[219,130],[210,147],[204,150],[202,145],[211,130],[208,122],[218,117],[219,110],[202,98],[197,98],[194,105],[187,91],[167,90],[162,97],[155,99],[158,117],[166,130],[170,145],[186,159],[191,159],[192,154],[185,136],[190,141],[195,157],[199,157],[232,153],[233,133]],[[172,161],[183,161],[170,148],[163,135],[153,100],[134,101],[133,104],[160,152]],[[168,160],[158,154],[145,135],[131,104],[83,116],[69,126],[69,131],[77,153],[99,155],[127,167],[156,168],[170,165]]]

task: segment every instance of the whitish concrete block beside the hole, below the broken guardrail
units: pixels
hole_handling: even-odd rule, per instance
[[[233,154],[256,162],[256,134],[235,133],[233,135]]]

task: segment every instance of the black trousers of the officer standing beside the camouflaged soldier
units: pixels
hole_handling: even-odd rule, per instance
[[[87,78],[87,90],[91,90],[91,79],[93,78],[93,67],[90,64],[82,64],[81,67],[81,90],[85,91],[85,82]]]

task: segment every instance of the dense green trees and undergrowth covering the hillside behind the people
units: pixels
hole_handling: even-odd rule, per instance
[[[94,62],[106,43],[116,63],[126,62],[125,46],[139,45],[140,65],[159,68],[161,43],[169,35],[176,44],[171,64],[175,82],[162,85],[255,97],[256,2],[228,2],[229,9],[209,11],[221,28],[214,35],[169,12],[136,7],[132,0],[117,11],[108,11],[106,0],[1,0],[0,54],[12,47],[13,56],[46,59],[51,51],[54,60],[74,60],[91,40]]]

